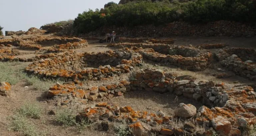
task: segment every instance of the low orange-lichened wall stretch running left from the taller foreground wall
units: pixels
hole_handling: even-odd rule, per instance
[[[79,98],[80,102],[85,104],[88,101],[102,101],[114,96],[123,96],[127,91],[130,91],[130,82],[120,81],[119,83],[113,83],[105,86],[91,86],[84,88],[82,83],[67,83],[56,84],[49,88],[47,96],[49,98],[59,96],[61,97],[61,104],[68,104],[72,99],[68,96]],[[87,85],[86,85],[87,87]]]

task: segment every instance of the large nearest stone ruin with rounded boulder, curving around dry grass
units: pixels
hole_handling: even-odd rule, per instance
[[[122,96],[129,91],[155,91],[173,93],[202,102],[204,105],[196,109],[191,104],[179,104],[175,115],[167,116],[161,110],[156,113],[135,111],[130,106],[119,106],[100,102],[94,107],[87,107],[76,116],[76,120],[90,123],[107,120],[111,122],[125,121],[133,134],[150,135],[184,135],[210,136],[213,128],[221,136],[240,136],[241,131],[256,123],[255,91],[250,86],[230,87],[225,83],[205,80],[177,80],[175,72],[164,72],[157,69],[143,69],[132,72],[130,81],[105,86],[85,87],[82,82],[56,84],[51,87],[48,97],[61,98],[61,105],[83,103],[88,101],[104,101],[112,97]],[[175,126],[172,122],[190,119],[184,126]],[[105,124],[105,125],[106,125]],[[196,130],[196,126],[205,131]],[[134,130],[138,129],[138,130]],[[139,132],[137,132],[139,131]]]

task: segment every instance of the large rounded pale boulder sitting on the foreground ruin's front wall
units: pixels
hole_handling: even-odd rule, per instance
[[[180,103],[174,114],[178,117],[189,118],[196,115],[196,107],[192,104]]]

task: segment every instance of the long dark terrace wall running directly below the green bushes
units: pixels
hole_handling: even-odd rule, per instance
[[[173,22],[161,26],[106,27],[87,35],[99,36],[101,33],[115,31],[125,37],[170,37],[170,36],[230,36],[253,37],[256,27],[232,21],[216,21],[207,24],[191,25],[186,22]]]

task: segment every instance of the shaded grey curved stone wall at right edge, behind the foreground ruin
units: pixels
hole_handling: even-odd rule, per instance
[[[221,49],[216,52],[222,66],[250,80],[256,80],[255,55],[255,49],[246,48]]]

